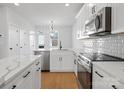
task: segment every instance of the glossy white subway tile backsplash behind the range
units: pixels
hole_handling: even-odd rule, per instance
[[[124,58],[124,35],[114,35],[97,39],[82,41],[83,49],[91,49],[93,52],[101,52]]]

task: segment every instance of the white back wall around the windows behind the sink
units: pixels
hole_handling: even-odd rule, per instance
[[[45,35],[45,49],[50,49],[50,29],[49,26],[42,25],[35,27],[36,32],[41,31]],[[59,40],[61,40],[63,48],[72,48],[72,26],[55,26],[55,30],[59,32]],[[36,37],[38,37],[36,35]],[[37,38],[36,38],[36,47],[37,46]]]

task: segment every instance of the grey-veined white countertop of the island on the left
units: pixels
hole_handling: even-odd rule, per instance
[[[41,55],[11,56],[0,60],[0,84],[6,84],[18,73],[33,64]],[[1,79],[3,82],[1,83]]]

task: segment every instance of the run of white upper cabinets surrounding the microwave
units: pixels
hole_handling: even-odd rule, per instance
[[[85,23],[94,14],[100,11],[104,7],[112,7],[112,24],[111,33],[118,34],[124,32],[124,4],[120,3],[93,3],[84,4],[78,15],[76,16],[75,30],[77,31],[77,39],[83,39],[87,37],[85,33]]]

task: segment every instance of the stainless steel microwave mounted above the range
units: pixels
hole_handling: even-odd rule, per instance
[[[104,7],[85,24],[88,35],[107,35],[111,33],[111,7]]]

